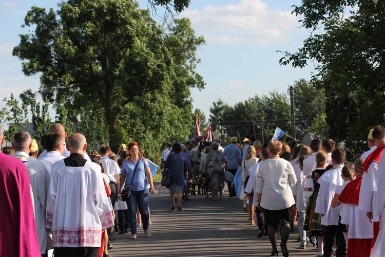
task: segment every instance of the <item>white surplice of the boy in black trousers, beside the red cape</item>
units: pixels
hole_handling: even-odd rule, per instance
[[[341,177],[342,168],[343,165],[338,165],[326,171],[317,181],[320,184],[320,188],[314,212],[324,214],[321,218],[321,224],[324,226],[338,225],[340,207],[332,208],[331,204],[336,188],[343,184]]]

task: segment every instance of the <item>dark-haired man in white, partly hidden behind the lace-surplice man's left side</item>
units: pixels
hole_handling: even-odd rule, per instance
[[[64,157],[62,154],[66,148],[66,144],[63,142],[62,137],[57,133],[50,133],[45,139],[45,146],[47,150],[47,155],[41,157],[39,160],[44,162],[47,167],[48,174],[51,175],[52,164],[58,160],[63,160]]]

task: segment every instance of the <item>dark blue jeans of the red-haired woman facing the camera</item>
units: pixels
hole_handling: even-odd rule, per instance
[[[131,198],[127,201],[128,223],[130,224],[131,234],[137,234],[137,206],[140,215],[142,215],[143,230],[148,230],[148,220],[150,214],[148,212],[148,204],[150,201],[149,190],[131,191]],[[140,222],[140,221],[139,221]]]

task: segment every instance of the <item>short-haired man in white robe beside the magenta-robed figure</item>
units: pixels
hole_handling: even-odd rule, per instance
[[[52,249],[49,231],[45,226],[49,174],[43,162],[28,155],[32,147],[32,140],[27,132],[16,133],[13,137],[12,146],[15,149],[15,153],[12,156],[22,160],[28,170],[33,192],[36,232],[40,252],[44,255],[48,249]]]

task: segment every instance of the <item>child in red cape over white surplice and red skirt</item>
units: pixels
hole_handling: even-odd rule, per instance
[[[341,223],[348,228],[348,257],[370,256],[373,249],[373,226],[366,213],[358,209],[358,199],[361,189],[364,159],[358,159],[353,164],[356,177],[342,190],[338,200],[344,205]],[[363,189],[364,190],[364,189]]]

